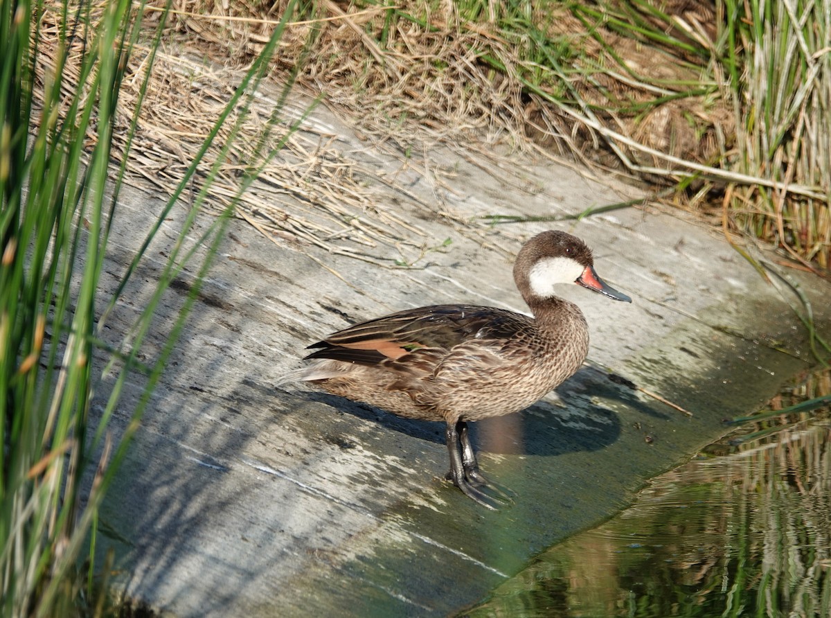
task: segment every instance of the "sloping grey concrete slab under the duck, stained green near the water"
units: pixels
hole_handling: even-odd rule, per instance
[[[448,614],[546,547],[610,517],[648,478],[725,433],[725,417],[759,408],[812,362],[789,308],[794,298],[706,225],[647,207],[578,223],[490,227],[479,217],[573,214],[632,190],[519,156],[514,178],[451,151],[434,156],[459,171],[440,195],[453,217],[427,217],[400,194],[389,198],[398,215],[419,218],[430,246],[453,240],[417,269],[275,244],[232,223],[101,512],[101,545],[116,548],[131,596],[175,616]],[[408,190],[427,203],[438,191],[427,182]],[[140,240],[135,231],[161,208],[138,191],[122,202],[113,281]],[[176,210],[165,225],[173,230],[183,216]],[[525,310],[508,254],[550,228],[586,240],[598,273],[633,303],[564,289],[587,315],[588,364],[559,389],[561,401],[549,396],[475,423],[480,463],[514,492],[511,507],[488,512],[444,481],[438,423],[273,387],[299,366],[307,344],[356,320],[452,302]],[[157,250],[171,238],[162,235]],[[153,279],[155,267],[143,278]],[[189,276],[171,290],[148,357]],[[814,300],[828,334],[829,285],[787,276]],[[112,329],[129,323],[143,291],[140,282],[130,291]],[[610,372],[691,416],[613,382]],[[128,400],[140,385],[130,381]]]

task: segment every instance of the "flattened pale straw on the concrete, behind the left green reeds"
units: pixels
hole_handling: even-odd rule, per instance
[[[41,75],[48,72],[59,43],[60,16],[53,12],[47,13],[47,17],[52,18],[52,22],[47,20],[42,26]],[[148,12],[147,18],[158,18],[158,12]],[[179,20],[182,19],[184,17],[179,16]],[[228,25],[227,22],[209,23]],[[179,27],[184,27],[181,22]],[[244,28],[241,30],[245,31]],[[296,27],[282,46],[287,50],[302,47],[305,36],[304,28]],[[193,42],[194,38],[191,35],[187,40]],[[195,48],[184,41],[184,37],[170,37],[156,52],[155,82],[150,84],[139,131],[126,161],[130,171],[158,189],[157,195],[170,195],[175,190],[204,136],[226,105],[239,78],[239,65],[248,58],[245,52],[238,58],[240,62],[223,67],[216,62],[200,60]],[[251,32],[244,41],[234,36],[229,42],[238,43],[241,50],[254,47],[258,50],[263,44],[263,40]],[[66,71],[68,89],[74,87],[73,83],[77,83],[79,77],[80,43],[76,52]],[[122,110],[134,108],[140,94],[144,61],[145,57],[140,54],[131,60],[135,80],[128,79],[120,94]],[[297,58],[292,58],[290,62],[296,61]],[[281,106],[282,96],[278,87],[265,85],[260,88],[252,113],[243,118],[242,139],[234,141],[234,147],[211,187],[209,210],[220,214],[236,196],[243,173],[253,160],[253,149],[265,133],[269,115]],[[347,148],[340,142],[337,131],[316,121],[313,116],[302,121],[300,131],[291,133],[290,127],[302,118],[310,104],[311,98],[301,97],[292,97],[282,104],[280,124],[285,131],[283,135],[272,135],[268,139],[273,142],[271,146],[285,139],[285,146],[278,157],[263,167],[258,180],[243,194],[237,215],[269,238],[294,243],[301,250],[308,245],[318,245],[332,253],[385,266],[395,263],[389,258],[391,252],[378,250],[379,246],[397,247],[402,255],[417,254],[429,241],[425,232],[394,210],[379,206],[381,200],[376,199],[378,189],[374,187],[394,184],[389,171],[365,166],[356,158],[344,156],[343,151]],[[129,122],[130,118],[123,116],[118,124],[123,128]],[[233,124],[226,123],[222,128],[218,143],[225,141]],[[96,136],[89,134],[87,138],[94,141]],[[124,142],[125,132],[116,131],[116,156],[124,151]],[[219,147],[209,151],[202,177],[218,153]],[[140,183],[140,187],[148,189],[146,183]],[[192,193],[199,189],[199,185],[194,184]]]

